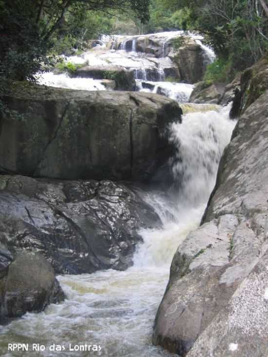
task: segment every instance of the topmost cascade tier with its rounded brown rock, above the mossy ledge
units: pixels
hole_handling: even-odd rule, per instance
[[[182,38],[181,46],[172,41]],[[136,79],[163,81],[170,77],[195,83],[205,67],[215,59],[213,50],[202,43],[203,37],[184,31],[149,35],[101,35],[89,42],[90,49],[67,58],[75,64],[111,68],[119,66],[134,72]]]

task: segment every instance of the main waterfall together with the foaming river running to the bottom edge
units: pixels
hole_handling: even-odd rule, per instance
[[[189,113],[183,123],[174,123],[170,140],[178,148],[171,161],[179,190],[142,192],[158,213],[162,227],[143,229],[127,271],[98,271],[94,274],[58,277],[68,299],[50,305],[43,313],[27,313],[3,326],[0,355],[11,355],[8,342],[53,343],[64,345],[65,352],[38,352],[39,357],[89,356],[89,352],[69,351],[69,344],[101,346],[94,356],[157,357],[172,356],[152,346],[152,325],[169,277],[169,267],[177,246],[195,229],[202,217],[224,147],[230,141],[235,122],[229,109],[219,112]],[[37,356],[28,352],[27,356]]]

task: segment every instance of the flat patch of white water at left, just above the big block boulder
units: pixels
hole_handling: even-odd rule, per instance
[[[67,74],[55,75],[46,72],[37,75],[38,83],[49,87],[80,89],[84,91],[106,91],[106,88],[93,78],[71,78]]]

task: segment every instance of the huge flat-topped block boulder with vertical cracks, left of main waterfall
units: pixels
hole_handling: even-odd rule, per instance
[[[0,118],[0,170],[57,179],[147,180],[172,154],[179,120],[157,94],[42,86],[4,97],[23,120]]]

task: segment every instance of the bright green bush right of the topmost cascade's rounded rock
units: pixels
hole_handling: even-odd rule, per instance
[[[207,85],[211,85],[215,82],[227,83],[232,77],[232,61],[217,58],[213,63],[207,66],[204,81]]]

